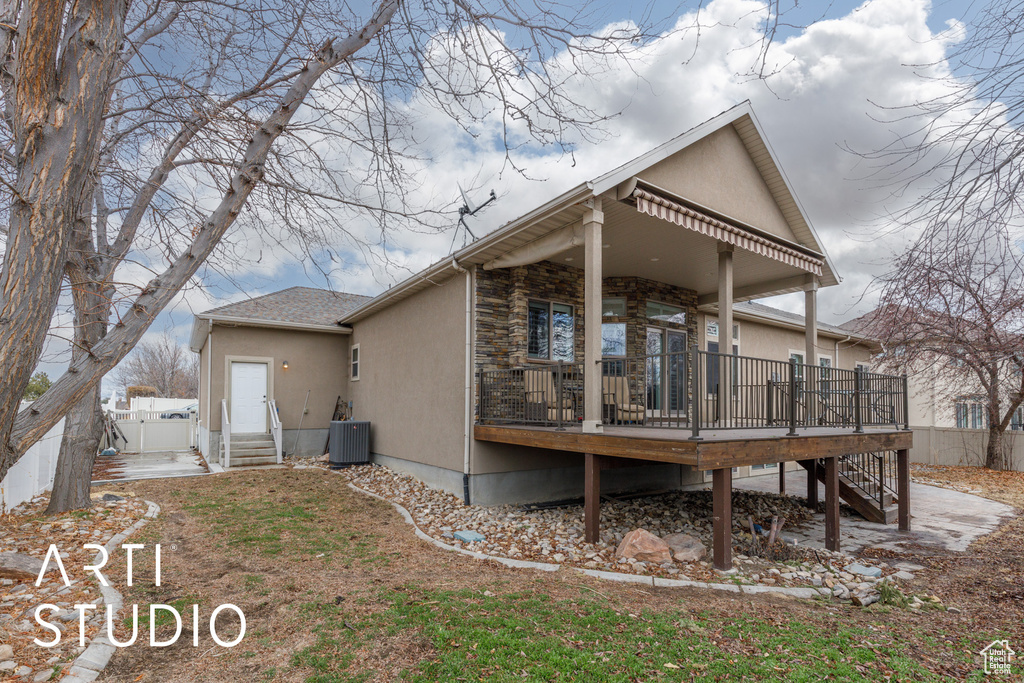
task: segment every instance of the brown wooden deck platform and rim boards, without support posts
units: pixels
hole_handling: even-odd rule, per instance
[[[710,429],[691,440],[686,429],[604,426],[602,434],[584,434],[580,426],[562,428],[532,425],[476,425],[473,436],[535,449],[591,453],[613,458],[649,460],[716,470],[743,465],[786,463],[857,453],[909,449],[912,432],[887,428],[815,427],[786,436],[786,429]]]

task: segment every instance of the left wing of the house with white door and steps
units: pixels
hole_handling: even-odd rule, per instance
[[[237,447],[234,464],[266,461],[274,450],[272,408],[285,453],[324,453],[347,385],[351,331],[337,322],[369,300],[293,287],[196,315],[189,346],[200,354],[200,449],[207,460],[221,458],[226,416],[234,433],[265,435],[245,449],[250,454]]]

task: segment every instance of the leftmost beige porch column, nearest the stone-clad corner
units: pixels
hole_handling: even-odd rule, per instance
[[[600,433],[601,424],[601,226],[604,213],[601,198],[585,203],[583,232],[584,264],[584,345],[583,345],[583,431]]]

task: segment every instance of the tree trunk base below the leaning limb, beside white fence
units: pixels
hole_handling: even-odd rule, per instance
[[[47,514],[79,510],[92,505],[89,500],[92,466],[99,451],[99,439],[103,435],[103,415],[99,400],[97,384],[65,418],[60,456],[57,459],[50,504],[46,508]]]

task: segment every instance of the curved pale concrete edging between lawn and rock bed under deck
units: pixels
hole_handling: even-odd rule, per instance
[[[383,496],[378,496],[377,494],[370,493],[365,488],[359,488],[351,481],[348,482],[348,487],[352,490],[358,492],[360,494],[366,494],[371,498],[376,498],[379,501],[384,501],[385,503],[390,503],[394,506],[395,510],[404,518],[406,522],[413,526],[416,531],[416,536],[420,539],[426,541],[427,543],[434,545],[442,550],[452,550],[457,553],[462,553],[463,555],[468,555],[477,560],[490,560],[493,562],[498,562],[499,564],[504,564],[505,566],[516,567],[519,569],[539,569],[541,571],[558,571],[562,568],[561,564],[554,564],[552,562],[531,562],[528,560],[514,560],[508,557],[497,557],[495,555],[487,555],[486,553],[478,553],[472,550],[465,550],[464,548],[456,548],[455,546],[450,546],[446,543],[442,543],[437,539],[425,533],[416,524],[413,519],[413,515],[409,513],[404,507],[395,503],[394,501],[389,501]],[[585,573],[588,577],[594,577],[595,579],[602,579],[604,581],[615,581],[625,584],[641,584],[643,586],[650,586],[652,588],[702,588],[710,589],[714,591],[728,591],[730,593],[744,593],[748,595],[753,595],[755,593],[774,593],[776,595],[787,595],[794,598],[811,599],[818,597],[831,597],[831,591],[828,589],[821,589],[825,591],[810,587],[797,587],[797,588],[786,588],[784,586],[741,586],[738,584],[709,584],[700,581],[683,581],[680,579],[662,579],[660,577],[641,577],[633,573],[621,573],[618,571],[600,571],[598,569],[581,569],[580,567],[573,567],[577,571]],[[827,593],[827,595],[825,594]]]

